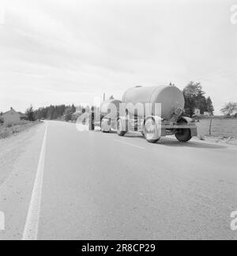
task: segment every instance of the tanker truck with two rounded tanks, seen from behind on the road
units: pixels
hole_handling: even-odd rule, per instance
[[[175,135],[180,142],[187,142],[197,136],[197,126],[195,120],[183,117],[184,105],[182,91],[175,86],[136,86],[126,90],[122,101],[103,101],[101,132],[115,130],[119,136],[141,132],[149,143]]]

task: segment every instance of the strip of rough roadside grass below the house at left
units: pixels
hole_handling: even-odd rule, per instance
[[[40,124],[40,122],[29,122],[26,120],[22,120],[18,124],[2,124],[0,125],[0,139],[6,139],[9,136],[13,136],[19,132],[26,130],[27,128],[31,128],[36,124]]]

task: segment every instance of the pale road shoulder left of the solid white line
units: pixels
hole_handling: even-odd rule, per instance
[[[44,130],[39,124],[0,143],[5,154],[0,155],[0,210],[6,219],[0,240],[22,237]]]

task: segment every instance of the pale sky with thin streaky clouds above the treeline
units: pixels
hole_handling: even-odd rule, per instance
[[[122,97],[134,85],[182,89],[194,80],[219,113],[237,101],[234,4],[0,0],[0,111],[90,103],[103,92]]]

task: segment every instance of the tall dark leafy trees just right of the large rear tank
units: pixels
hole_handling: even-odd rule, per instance
[[[211,97],[205,97],[200,82],[189,82],[183,90],[185,98],[185,112],[189,117],[194,116],[194,110],[200,109],[200,113],[208,112],[213,116],[214,108]]]

